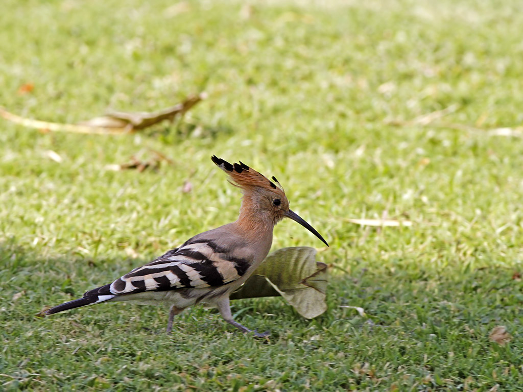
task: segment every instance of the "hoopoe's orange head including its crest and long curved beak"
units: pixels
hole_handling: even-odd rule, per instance
[[[308,229],[328,246],[327,241],[310,224],[289,209],[289,200],[276,177],[272,177],[271,181],[242,162],[230,164],[214,155],[211,159],[229,175],[232,185],[242,190],[244,199],[240,218],[242,213],[244,219],[254,218],[256,215],[264,216],[266,220],[272,221],[274,226],[284,217],[288,217]]]

